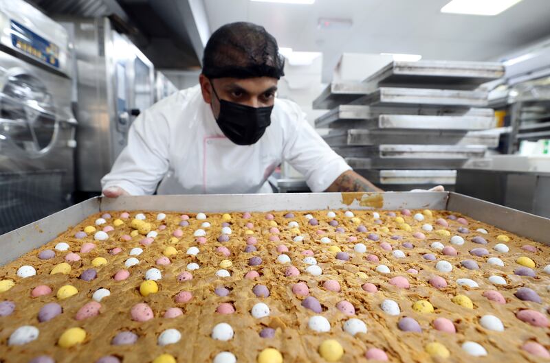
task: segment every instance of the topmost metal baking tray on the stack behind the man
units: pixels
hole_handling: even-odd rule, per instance
[[[498,62],[421,60],[391,62],[363,82],[373,86],[471,90],[504,73],[504,66]]]

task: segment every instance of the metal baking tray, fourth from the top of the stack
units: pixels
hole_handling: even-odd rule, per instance
[[[455,130],[363,130],[333,129],[322,138],[333,148],[367,145],[485,145],[496,148],[500,135],[483,132],[461,132]]]

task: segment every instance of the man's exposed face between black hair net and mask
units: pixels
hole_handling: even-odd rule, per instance
[[[219,100],[214,94],[212,86],[220,99],[235,102],[251,107],[273,106],[277,91],[276,78],[216,78],[208,80],[204,75],[199,76],[204,102],[212,104],[214,117],[219,115]]]

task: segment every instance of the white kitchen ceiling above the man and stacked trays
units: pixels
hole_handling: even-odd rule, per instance
[[[321,51],[323,80],[342,52],[421,54],[423,59],[497,60],[550,36],[550,0],[523,0],[497,16],[442,14],[449,0],[316,0],[314,5],[204,0],[210,29],[251,21],[279,47]],[[351,19],[344,30],[318,29],[319,18]]]

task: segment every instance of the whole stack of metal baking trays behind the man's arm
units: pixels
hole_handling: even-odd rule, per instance
[[[504,75],[499,63],[391,62],[363,82],[331,83],[314,100],[325,141],[383,189],[443,184],[496,148],[494,110],[477,87]]]

